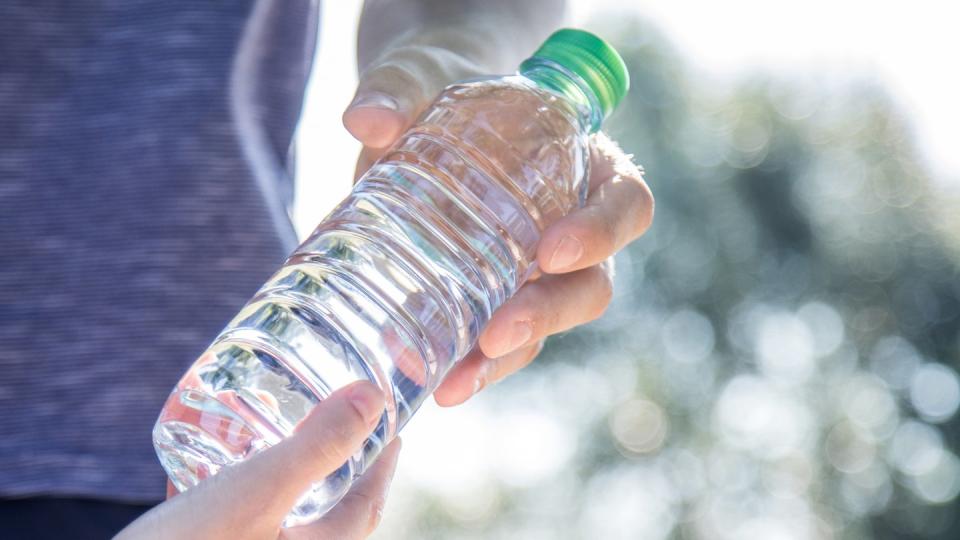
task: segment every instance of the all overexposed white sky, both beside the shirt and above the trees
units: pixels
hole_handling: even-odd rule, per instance
[[[324,5],[316,70],[300,126],[301,234],[350,187],[357,145],[340,124],[356,84],[359,1]],[[627,7],[632,6],[632,7]],[[789,76],[876,72],[913,116],[920,145],[942,184],[960,185],[960,7],[915,0],[572,0],[571,23],[634,10],[659,24],[698,69],[721,77],[758,68]]]

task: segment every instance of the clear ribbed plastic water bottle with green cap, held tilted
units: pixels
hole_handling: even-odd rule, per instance
[[[174,485],[367,379],[387,398],[379,426],[286,525],[336,504],[530,276],[543,230],[583,203],[588,134],[627,86],[610,45],[564,29],[518,74],[446,88],[177,384],[154,428]]]

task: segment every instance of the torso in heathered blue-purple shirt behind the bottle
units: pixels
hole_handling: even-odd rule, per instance
[[[166,395],[295,242],[317,11],[0,5],[0,495],[162,496]]]

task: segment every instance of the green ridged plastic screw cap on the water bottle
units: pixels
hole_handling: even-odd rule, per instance
[[[623,58],[609,43],[583,30],[557,30],[533,53],[578,75],[593,90],[606,118],[630,88]]]

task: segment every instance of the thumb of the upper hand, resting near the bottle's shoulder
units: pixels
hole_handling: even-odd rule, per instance
[[[390,146],[446,85],[480,73],[475,62],[444,48],[391,49],[360,74],[343,125],[366,147]]]

